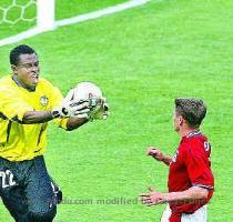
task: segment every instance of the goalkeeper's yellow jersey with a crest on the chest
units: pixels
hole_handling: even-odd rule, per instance
[[[42,155],[47,145],[48,123],[22,124],[28,111],[47,111],[63,99],[60,90],[40,78],[36,91],[19,87],[11,75],[0,79],[0,157],[9,161]],[[54,120],[67,128],[67,119]]]

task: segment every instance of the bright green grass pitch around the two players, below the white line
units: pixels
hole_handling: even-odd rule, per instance
[[[67,133],[49,131],[47,163],[67,199],[134,199],[154,185],[166,190],[168,168],[146,158],[148,145],[172,154],[173,100],[199,97],[209,107],[202,131],[209,135],[215,194],[210,222],[231,222],[233,128],[233,3],[223,0],[151,1],[144,7],[63,27],[23,41],[40,54],[41,74],[63,93],[91,80],[111,107],[105,122]],[[9,73],[0,48],[0,73]],[[152,222],[164,205],[62,204],[57,222]],[[10,221],[0,205],[0,221]]]

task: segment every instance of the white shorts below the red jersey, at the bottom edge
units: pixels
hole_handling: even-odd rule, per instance
[[[172,211],[168,204],[165,211],[163,212],[161,222],[169,222],[171,214]],[[203,205],[192,214],[182,213],[181,222],[207,222],[207,206]]]

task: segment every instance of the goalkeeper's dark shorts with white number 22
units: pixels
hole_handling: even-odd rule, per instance
[[[21,162],[0,158],[0,196],[17,222],[53,220],[58,199],[51,182],[43,157]]]

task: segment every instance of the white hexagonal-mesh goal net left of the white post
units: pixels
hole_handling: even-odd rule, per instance
[[[0,2],[0,24],[36,21],[37,0],[8,0]]]

